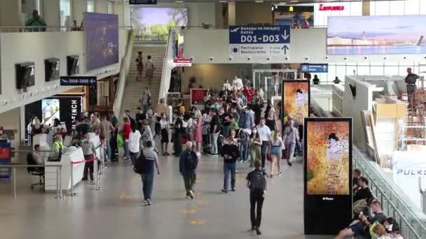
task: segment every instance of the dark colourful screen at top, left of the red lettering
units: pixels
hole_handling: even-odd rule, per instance
[[[288,25],[293,28],[314,26],[313,6],[273,6],[275,25]]]

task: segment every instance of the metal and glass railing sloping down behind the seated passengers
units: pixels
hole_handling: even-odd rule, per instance
[[[420,219],[418,219],[418,217],[415,217],[414,213],[412,212],[411,208],[408,207],[408,205],[406,205],[406,203],[401,200],[401,198],[399,198],[398,194],[396,191],[394,191],[394,189],[392,189],[392,187],[389,187],[386,183],[382,183],[383,185],[387,186],[387,189],[390,190],[392,196],[395,196],[397,198],[397,204],[401,204],[404,208],[406,208],[406,210],[408,211],[408,213],[410,215],[404,215],[404,213],[401,212],[401,210],[399,210],[397,208],[397,206],[392,202],[392,199],[387,196],[385,194],[385,191],[383,189],[381,189],[381,185],[379,185],[378,182],[376,182],[377,180],[375,180],[372,176],[371,173],[367,173],[369,172],[369,170],[366,168],[366,166],[364,166],[364,162],[362,162],[362,160],[366,161],[366,159],[362,156],[362,154],[359,152],[359,149],[357,147],[353,147],[353,150],[355,152],[354,157],[353,157],[353,162],[354,162],[354,166],[355,168],[359,168],[361,169],[361,171],[363,172],[363,175],[366,176],[369,181],[371,182],[371,189],[375,189],[376,191],[376,198],[379,199],[380,203],[382,203],[382,205],[387,205],[387,213],[389,213],[391,210],[389,208],[392,208],[392,217],[394,217],[394,219],[396,219],[396,217],[398,216],[399,219],[401,219],[403,221],[404,224],[400,223],[399,226],[401,226],[401,233],[406,234],[404,232],[408,232],[408,235],[404,235],[406,238],[413,238],[413,236],[415,238],[421,239],[422,236],[426,236],[426,227],[424,224],[422,224],[422,222],[420,221]],[[365,162],[367,163],[367,162]],[[379,180],[381,180],[382,182],[386,182],[385,179],[381,178],[381,176],[379,174],[378,175]],[[373,191],[373,190],[372,190]],[[380,193],[380,194],[379,194]],[[386,209],[383,207],[383,209]],[[385,211],[385,210],[384,210]],[[411,222],[408,222],[408,219]],[[415,225],[415,226],[414,226]],[[408,228],[408,230],[407,230]],[[417,228],[417,229],[415,229]],[[418,233],[419,231],[422,231],[422,233]],[[422,235],[422,236],[420,236]]]

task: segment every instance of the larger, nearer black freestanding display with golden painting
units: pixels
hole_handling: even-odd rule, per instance
[[[352,118],[305,118],[303,128],[305,234],[334,235],[352,221]]]

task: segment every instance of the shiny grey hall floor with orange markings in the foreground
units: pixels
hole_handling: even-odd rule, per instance
[[[81,182],[78,196],[57,201],[54,194],[29,189],[26,171],[18,173],[18,194],[0,184],[0,238],[256,238],[249,232],[247,164],[239,164],[237,191],[221,194],[221,158],[202,157],[196,198],[184,199],[178,159],[162,157],[153,205],[142,203],[142,184],[132,167],[107,164],[102,191]],[[261,238],[332,238],[303,236],[301,162],[284,166],[284,175],[269,181]]]

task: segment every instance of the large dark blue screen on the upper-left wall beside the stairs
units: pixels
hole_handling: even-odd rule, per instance
[[[118,15],[84,13],[86,70],[118,63]]]

